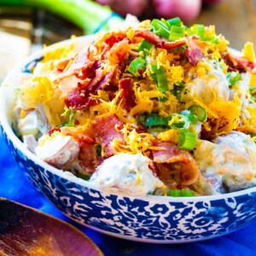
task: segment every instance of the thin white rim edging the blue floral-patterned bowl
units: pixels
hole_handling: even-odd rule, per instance
[[[76,48],[80,49],[81,47],[91,44],[94,40],[95,36],[84,36],[80,38],[76,38]],[[73,41],[71,39],[63,41],[61,43],[55,44],[72,44]],[[51,47],[51,46],[49,46]],[[234,54],[241,55],[239,51],[236,49],[232,49]],[[75,177],[71,172],[63,172],[61,170],[56,169],[53,166],[49,166],[46,162],[43,160],[38,159],[38,157],[34,154],[32,154],[28,149],[24,147],[24,144],[20,142],[20,139],[16,137],[15,132],[11,128],[11,111],[13,108],[13,102],[15,100],[15,86],[18,84],[20,73],[22,67],[24,67],[27,63],[30,61],[33,61],[37,59],[38,57],[43,55],[44,50],[40,50],[37,53],[30,55],[28,58],[26,58],[25,61],[21,62],[19,65],[17,65],[13,70],[9,72],[9,74],[6,76],[6,78],[3,80],[3,84],[0,89],[0,121],[3,126],[3,130],[6,132],[9,139],[14,143],[15,147],[18,148],[23,154],[26,155],[27,158],[33,160],[35,163],[37,163],[39,166],[44,167],[44,169],[49,170],[49,172],[54,173],[55,175],[58,175],[60,177],[66,178],[68,181],[73,183],[79,183],[80,185],[84,187],[88,187],[90,189],[96,189],[94,185],[92,185],[90,182],[87,182],[79,177]],[[230,197],[236,197],[239,195],[246,195],[250,194],[256,191],[256,187],[253,187],[251,189],[244,189],[241,191],[224,194],[224,195],[204,195],[204,196],[195,196],[195,197],[170,197],[170,196],[157,196],[157,195],[128,195],[121,191],[111,191],[106,192],[105,190],[102,191],[103,194],[114,194],[114,195],[125,195],[127,197],[136,198],[136,199],[143,199],[143,200],[149,200],[149,201],[205,201],[205,200],[219,200],[219,199],[226,199]]]

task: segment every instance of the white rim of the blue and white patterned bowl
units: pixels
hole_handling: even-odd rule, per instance
[[[20,141],[18,137],[16,137],[15,132],[12,130],[11,125],[9,124],[9,121],[7,119],[7,105],[6,97],[5,97],[5,91],[8,90],[10,80],[12,79],[14,74],[22,73],[21,69],[24,67],[27,63],[30,61],[33,61],[37,59],[38,57],[42,56],[45,49],[49,49],[49,47],[56,47],[61,46],[62,44],[72,44],[73,42],[78,40],[77,42],[83,43],[84,45],[90,44],[95,38],[95,35],[86,35],[78,38],[70,38],[66,39],[64,41],[61,41],[59,43],[51,44],[47,46],[44,49],[40,49],[37,52],[33,53],[32,55],[29,55],[26,57],[23,61],[18,63],[13,69],[9,71],[9,73],[6,75],[6,77],[3,79],[3,82],[0,87],[0,98],[2,101],[0,102],[0,125],[3,127],[3,131],[6,133],[9,140],[14,143],[15,148],[18,148],[20,152],[26,155],[27,158],[32,160],[34,163],[36,163],[38,166],[42,166],[45,170],[52,172],[53,174],[57,175],[58,177],[62,177],[67,179],[69,182],[77,183],[82,187],[88,188],[88,189],[94,189],[98,192],[101,192],[102,194],[108,194],[108,195],[122,195],[124,197],[129,197],[132,199],[137,200],[144,200],[144,201],[158,201],[158,202],[191,202],[191,201],[217,201],[217,200],[226,200],[228,198],[236,197],[236,196],[242,196],[242,195],[249,195],[256,192],[256,186],[250,189],[243,189],[236,192],[231,192],[227,194],[219,194],[219,195],[200,195],[200,196],[191,196],[191,197],[172,197],[172,196],[162,196],[162,195],[132,195],[125,193],[120,190],[107,190],[107,189],[100,189],[96,187],[96,185],[93,185],[92,183],[85,181],[82,178],[76,177],[73,175],[73,173],[68,171],[63,171],[61,169],[57,169],[54,166],[50,166],[44,160],[40,160],[35,154],[32,154],[27,148],[24,147],[24,144]],[[237,49],[230,48],[232,52],[234,52],[236,55],[241,55],[241,52]]]

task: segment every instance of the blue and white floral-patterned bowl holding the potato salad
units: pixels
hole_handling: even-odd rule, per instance
[[[92,38],[78,40],[90,44]],[[201,241],[223,236],[256,218],[256,188],[187,198],[111,194],[39,160],[15,136],[11,108],[22,68],[41,55],[42,51],[30,56],[3,81],[1,128],[11,153],[28,179],[68,217],[111,236],[155,243]]]

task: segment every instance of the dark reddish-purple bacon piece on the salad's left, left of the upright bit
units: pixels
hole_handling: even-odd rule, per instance
[[[89,92],[86,90],[73,90],[71,91],[67,98],[64,100],[67,108],[71,109],[83,109],[89,106],[95,106],[99,103],[96,98],[90,97]]]

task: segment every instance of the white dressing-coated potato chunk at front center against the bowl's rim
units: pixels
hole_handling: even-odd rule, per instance
[[[133,195],[152,194],[164,183],[148,167],[148,157],[143,154],[116,154],[104,160],[90,177],[102,189],[119,189]]]

